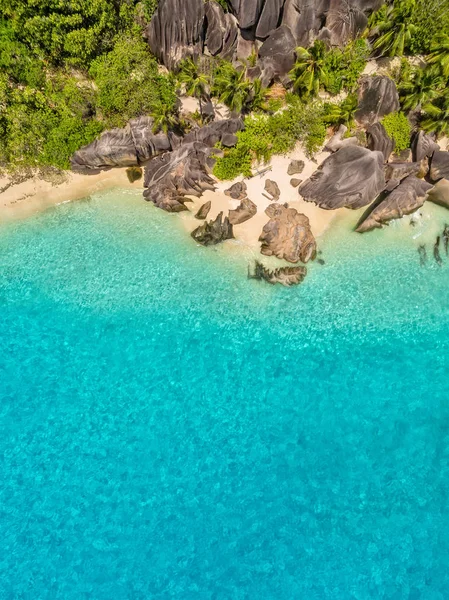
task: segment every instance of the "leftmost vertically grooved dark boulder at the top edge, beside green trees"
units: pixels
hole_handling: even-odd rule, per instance
[[[151,52],[169,69],[203,49],[204,0],[160,0],[145,30]]]

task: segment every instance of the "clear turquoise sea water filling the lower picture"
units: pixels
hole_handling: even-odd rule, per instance
[[[284,289],[136,192],[0,226],[2,600],[449,598],[449,259],[347,228]]]

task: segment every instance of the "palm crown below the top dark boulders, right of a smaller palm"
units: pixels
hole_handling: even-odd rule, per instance
[[[246,78],[243,67],[236,69],[225,62],[216,70],[212,92],[231,111],[241,112],[249,101],[251,82]]]

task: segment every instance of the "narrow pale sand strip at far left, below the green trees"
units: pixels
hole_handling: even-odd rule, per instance
[[[51,206],[81,200],[91,194],[114,187],[141,189],[142,180],[130,183],[125,168],[102,171],[94,175],[63,172],[57,180],[43,179],[38,172],[31,178],[14,183],[0,177],[0,223],[29,217]]]

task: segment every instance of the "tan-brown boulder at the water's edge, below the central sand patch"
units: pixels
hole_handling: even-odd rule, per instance
[[[316,242],[309,219],[287,204],[270,204],[265,213],[270,217],[259,241],[266,256],[277,256],[288,262],[308,262],[316,256]]]

